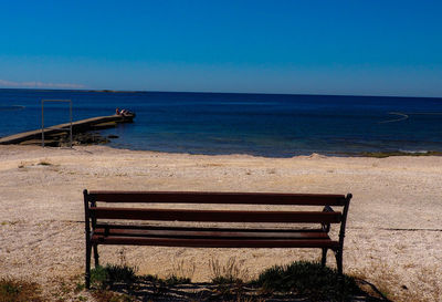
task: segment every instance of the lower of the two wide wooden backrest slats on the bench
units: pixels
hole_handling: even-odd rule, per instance
[[[337,223],[340,212],[323,211],[222,211],[91,207],[93,218],[203,222],[318,222]]]

